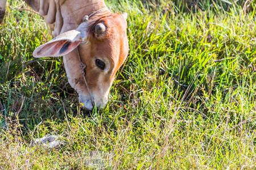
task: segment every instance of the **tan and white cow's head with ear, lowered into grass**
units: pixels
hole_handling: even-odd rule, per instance
[[[93,109],[93,104],[104,107],[115,74],[129,50],[126,19],[124,13],[82,22],[77,29],[64,32],[36,48],[33,56],[64,56],[68,82],[79,94],[80,103],[88,110]],[[88,88],[79,70],[79,54],[86,65]]]

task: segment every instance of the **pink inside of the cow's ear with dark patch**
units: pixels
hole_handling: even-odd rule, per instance
[[[33,56],[36,58],[40,57],[59,57],[70,53],[80,44],[80,41],[49,41],[46,44],[38,46],[33,52]]]

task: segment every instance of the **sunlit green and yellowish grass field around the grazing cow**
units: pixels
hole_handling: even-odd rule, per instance
[[[109,103],[86,112],[62,57],[32,57],[51,39],[43,18],[9,1],[0,169],[256,169],[256,5],[197,2],[106,1],[128,13],[130,52]],[[34,145],[46,134],[64,145]]]

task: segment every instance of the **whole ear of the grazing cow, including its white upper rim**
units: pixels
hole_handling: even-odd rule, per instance
[[[38,46],[34,50],[33,56],[36,58],[63,56],[75,49],[84,39],[85,36],[79,31],[71,30],[64,32],[51,41],[46,42],[46,44]]]

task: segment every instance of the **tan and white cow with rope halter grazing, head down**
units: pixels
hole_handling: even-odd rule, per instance
[[[25,0],[44,16],[53,39],[34,50],[34,57],[63,56],[68,82],[85,109],[102,108],[115,74],[125,61],[127,13],[112,13],[104,0]],[[0,0],[0,22],[6,0]]]

